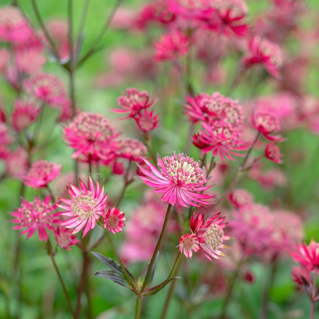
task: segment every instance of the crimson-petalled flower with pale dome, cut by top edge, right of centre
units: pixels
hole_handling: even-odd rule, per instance
[[[245,36],[248,33],[247,24],[243,20],[247,13],[247,6],[241,0],[215,0],[212,7],[204,12],[201,20],[205,22],[205,27],[217,33]]]

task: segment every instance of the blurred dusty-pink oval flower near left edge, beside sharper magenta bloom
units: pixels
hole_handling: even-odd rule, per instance
[[[6,172],[9,176],[23,179],[29,167],[29,156],[26,150],[19,146],[10,152],[6,161]]]

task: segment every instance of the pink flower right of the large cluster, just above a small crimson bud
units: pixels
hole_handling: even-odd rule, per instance
[[[282,142],[285,139],[278,135],[270,135],[280,131],[280,123],[276,115],[270,112],[253,111],[249,117],[250,125],[270,141]]]

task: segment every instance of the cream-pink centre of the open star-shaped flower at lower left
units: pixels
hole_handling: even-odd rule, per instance
[[[78,219],[89,218],[95,212],[96,199],[92,197],[92,192],[88,191],[85,195],[82,190],[80,195],[73,196],[70,206],[71,212]]]

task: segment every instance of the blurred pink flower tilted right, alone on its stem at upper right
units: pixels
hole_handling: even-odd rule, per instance
[[[275,78],[279,78],[279,68],[283,64],[283,54],[277,44],[266,39],[253,37],[249,41],[250,55],[243,59],[246,68],[254,64],[263,64]]]

